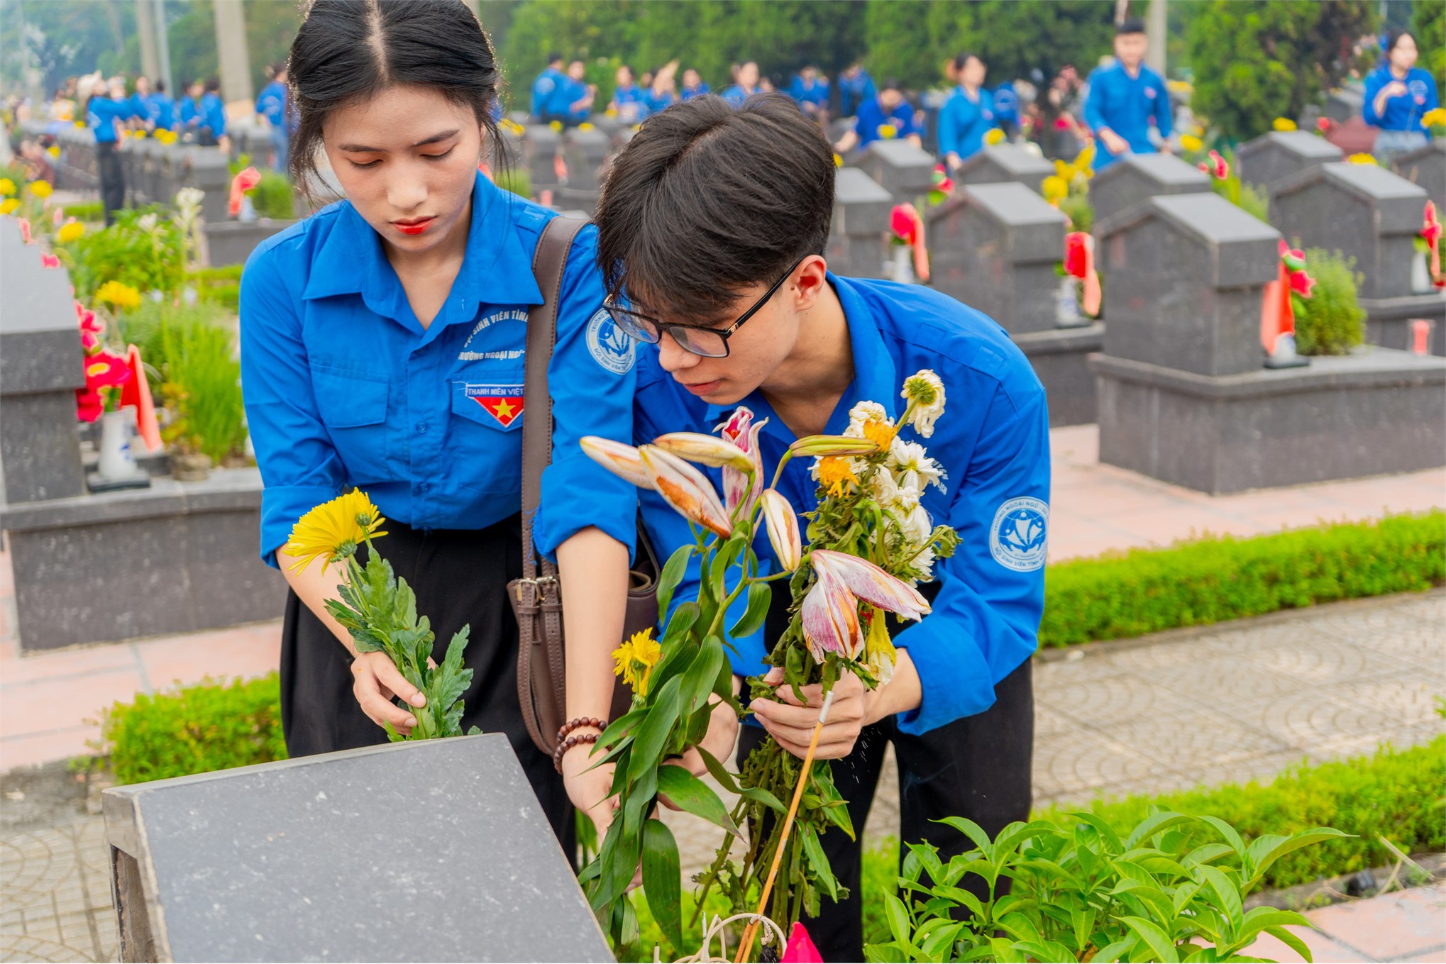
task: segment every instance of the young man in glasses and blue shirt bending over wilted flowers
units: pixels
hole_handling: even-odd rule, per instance
[[[856,676],[839,681],[818,756],[837,760],[834,782],[862,830],[894,743],[902,838],[934,843],[947,863],[969,844],[931,821],[963,815],[995,834],[1030,812],[1030,655],[1050,493],[1044,390],[979,312],[927,288],[829,273],[833,185],[833,152],[790,98],[759,95],[740,108],[694,98],[643,124],[616,158],[596,215],[599,263],[613,319],[648,343],[638,441],[711,432],[745,405],[755,425],[768,419],[759,448],[771,474],[798,436],[844,431],[857,402],[898,416],[907,376],[931,369],[943,380],[947,406],[933,435],[905,429],[901,439],[925,445],[947,474],[947,493],[928,486],[921,502],[960,543],[921,587],[933,613],[895,636],[894,679],[872,692]],[[810,461],[794,460],[779,480],[800,513],[817,504]],[[655,493],[643,497],[643,517],[659,552],[691,543],[688,525]],[[766,539],[755,549],[777,571]],[[674,598],[696,584],[693,571]],[[730,640],[737,675],[766,669],[788,603],[778,582],[765,629]],[[788,689],[755,700],[750,724],[763,728],[742,727],[739,754],[766,728],[804,756],[821,702],[817,687],[805,697],[803,707]],[[830,831],[823,845],[850,896],[826,899],[810,934],[824,960],[862,961],[860,844]]]

